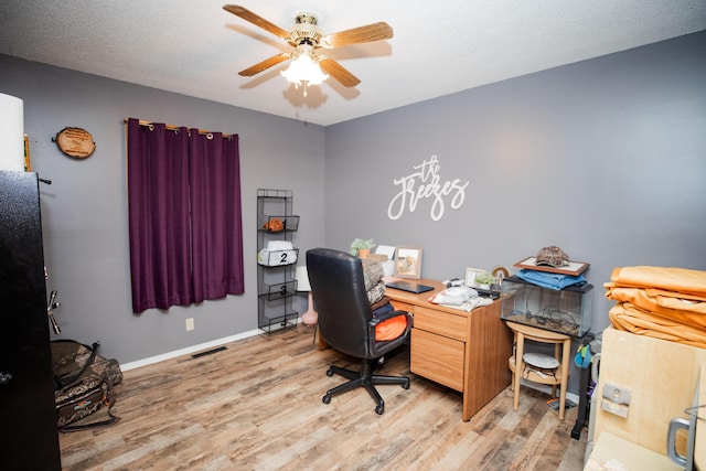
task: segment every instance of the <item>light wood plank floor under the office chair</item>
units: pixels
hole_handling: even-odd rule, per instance
[[[547,395],[521,388],[498,395],[470,421],[460,395],[409,374],[408,351],[381,374],[410,375],[411,386],[378,386],[385,414],[359,388],[321,402],[344,382],[329,364],[357,367],[320,351],[302,327],[227,344],[125,373],[119,424],[61,433],[65,470],[581,470],[586,429],[570,437]]]

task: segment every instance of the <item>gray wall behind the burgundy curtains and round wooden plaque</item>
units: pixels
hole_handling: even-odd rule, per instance
[[[32,170],[42,185],[47,290],[57,289],[62,336],[93,342],[121,363],[257,329],[256,192],[293,190],[295,243],[323,244],[324,128],[0,55],[0,93],[24,100]],[[236,86],[233,93],[244,93]],[[245,92],[247,93],[247,92]],[[126,207],[124,119],[238,133],[245,295],[133,314]],[[71,159],[52,142],[67,126],[88,130],[95,153]],[[300,312],[306,298],[296,300]],[[195,330],[185,331],[194,318]]]

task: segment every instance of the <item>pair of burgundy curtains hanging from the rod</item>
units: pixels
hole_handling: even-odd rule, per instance
[[[128,119],[132,310],[244,292],[237,136]]]

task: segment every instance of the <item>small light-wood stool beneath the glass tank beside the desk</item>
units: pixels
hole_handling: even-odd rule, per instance
[[[514,355],[507,361],[510,371],[513,373],[511,389],[514,393],[514,410],[517,410],[517,404],[520,403],[520,381],[525,378],[533,383],[552,386],[553,398],[556,397],[556,387],[559,386],[559,419],[564,420],[566,386],[569,378],[571,338],[563,333],[518,324],[516,322],[505,321],[505,323],[515,335]],[[524,360],[522,361],[521,366],[517,367],[515,358],[524,358],[525,340],[554,344],[554,357],[559,363],[556,370],[547,374],[547,372],[536,367],[536,365],[533,366],[528,364]]]

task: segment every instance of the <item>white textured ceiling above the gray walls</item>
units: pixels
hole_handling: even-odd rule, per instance
[[[288,62],[238,75],[291,47],[225,3],[2,0],[0,53],[327,126],[706,30],[706,0],[237,2],[285,30],[302,11],[324,34],[393,28],[391,40],[328,52],[360,85],[329,78],[303,97],[279,75]]]

